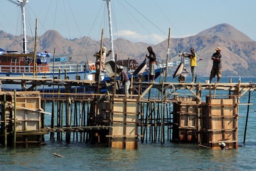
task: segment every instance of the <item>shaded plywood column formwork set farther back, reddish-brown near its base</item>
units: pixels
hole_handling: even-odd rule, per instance
[[[176,97],[173,103],[172,140],[193,142],[196,140],[198,105],[195,97]]]

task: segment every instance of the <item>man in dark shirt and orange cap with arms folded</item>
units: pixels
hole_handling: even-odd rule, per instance
[[[221,79],[221,60],[222,60],[222,54],[221,54],[221,48],[217,47],[216,52],[212,56],[213,60],[213,68],[211,70],[210,74],[210,83],[212,82],[212,79],[217,75],[217,83],[219,83]]]

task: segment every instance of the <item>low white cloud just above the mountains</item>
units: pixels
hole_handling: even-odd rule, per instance
[[[158,44],[168,38],[165,35],[159,34],[141,35],[131,30],[119,30],[116,36],[128,39],[132,42],[146,42],[151,44]]]

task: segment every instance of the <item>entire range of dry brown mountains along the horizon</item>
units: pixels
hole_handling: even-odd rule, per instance
[[[0,30],[0,47],[5,50],[22,50],[22,36],[13,36]],[[34,38],[27,37],[28,51],[34,51]],[[113,41],[114,53],[117,59],[136,59],[139,62],[145,59],[147,47],[152,46],[159,61],[166,60],[167,41],[152,45],[144,42],[131,42],[118,38]],[[109,38],[104,38],[103,46],[110,48]],[[37,51],[48,51],[53,54],[55,48],[56,56],[72,56],[74,63],[94,61],[93,54],[100,49],[100,41],[90,37],[67,39],[63,38],[56,30],[48,30],[38,38]],[[216,47],[221,47],[222,75],[223,76],[252,76],[256,69],[256,42],[252,41],[246,34],[235,29],[229,24],[218,24],[200,33],[186,38],[171,38],[170,61],[180,61],[180,52],[189,52],[190,47],[200,60],[197,62],[196,74],[198,76],[209,76],[212,68],[211,56]],[[108,60],[108,59],[107,59]],[[169,70],[170,75],[175,67]],[[185,66],[190,67],[188,64]],[[190,73],[188,75],[191,75]]]

